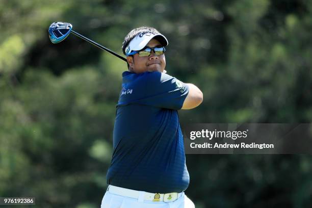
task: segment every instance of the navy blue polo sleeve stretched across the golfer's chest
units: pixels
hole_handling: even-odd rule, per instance
[[[145,93],[139,99],[143,105],[179,110],[189,93],[189,86],[175,77],[161,72],[146,72]]]

